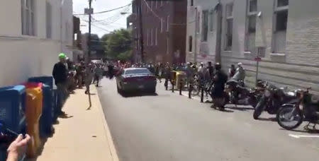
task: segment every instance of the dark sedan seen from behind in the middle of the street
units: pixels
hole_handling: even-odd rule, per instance
[[[119,93],[135,90],[155,93],[156,83],[156,77],[147,68],[125,68],[116,78]]]

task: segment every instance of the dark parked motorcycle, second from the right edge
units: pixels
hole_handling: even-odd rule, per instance
[[[254,108],[253,117],[258,119],[263,111],[267,111],[269,114],[276,114],[281,105],[296,102],[297,99],[295,93],[286,92],[282,88],[276,88],[275,85],[267,83],[264,94]]]

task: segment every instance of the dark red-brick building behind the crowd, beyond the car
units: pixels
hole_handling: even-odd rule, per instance
[[[140,38],[143,35],[145,62],[185,62],[187,1],[135,0],[132,6],[130,22],[133,23],[135,61],[142,59]]]

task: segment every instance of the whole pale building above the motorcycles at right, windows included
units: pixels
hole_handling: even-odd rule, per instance
[[[186,61],[242,62],[258,78],[319,94],[318,0],[188,0]]]

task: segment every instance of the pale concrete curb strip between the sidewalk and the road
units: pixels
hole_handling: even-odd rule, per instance
[[[99,113],[100,113],[100,116],[101,116],[101,119],[103,120],[103,126],[104,126],[104,130],[105,130],[105,133],[106,133],[106,139],[108,141],[108,148],[110,148],[110,152],[111,152],[111,155],[112,155],[112,160],[113,161],[119,161],[118,159],[118,153],[116,152],[116,148],[114,146],[114,143],[113,143],[113,138],[111,136],[111,132],[110,132],[110,129],[108,128],[108,123],[106,122],[106,119],[104,117],[104,112],[103,112],[103,108],[102,108],[102,105],[101,105],[101,101],[99,99],[99,93],[96,89],[96,87],[94,85],[91,85],[90,88],[94,88],[94,93],[96,93],[96,97],[97,97],[97,104],[96,107],[99,109]],[[93,92],[91,90],[91,92]]]

